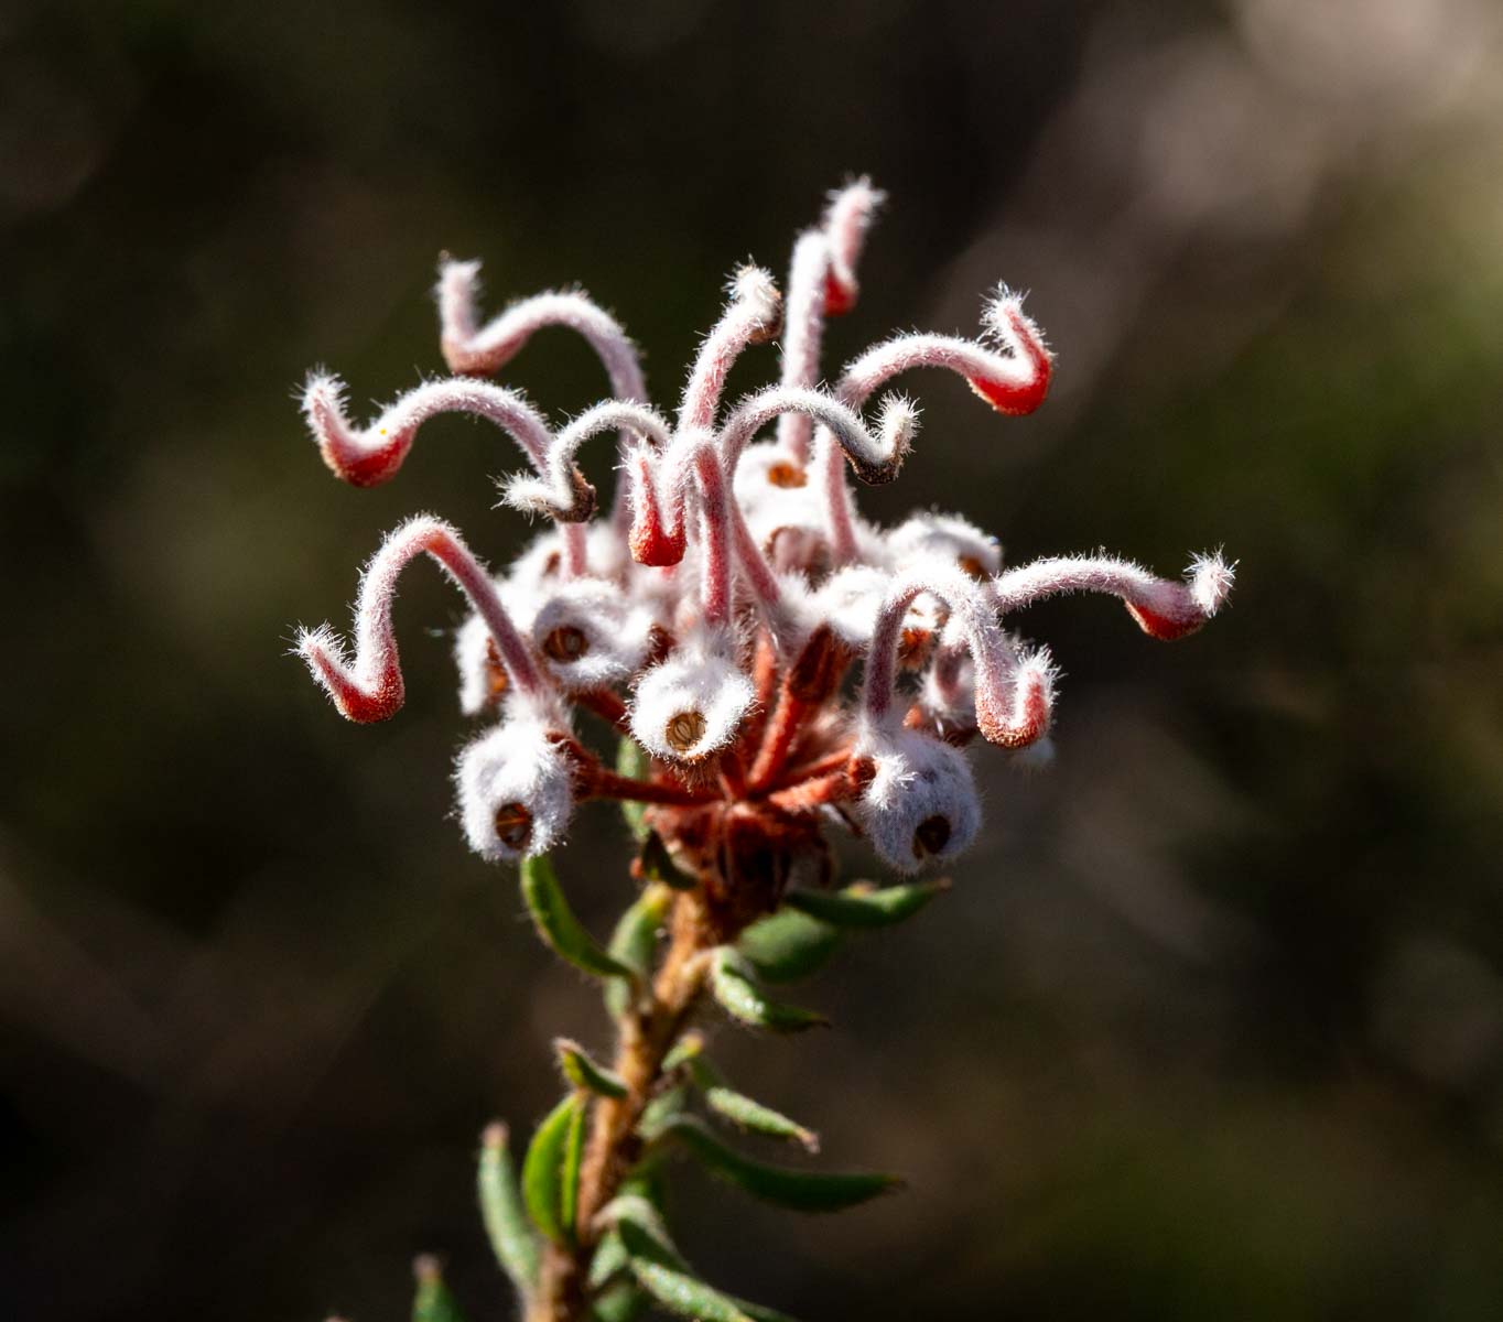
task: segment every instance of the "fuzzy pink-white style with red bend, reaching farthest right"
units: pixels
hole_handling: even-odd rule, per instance
[[[1193,634],[1220,610],[1235,577],[1235,566],[1219,554],[1196,556],[1183,583],[1157,578],[1117,556],[1054,556],[1009,569],[990,589],[1003,614],[1067,592],[1117,596],[1145,634],[1172,641]]]

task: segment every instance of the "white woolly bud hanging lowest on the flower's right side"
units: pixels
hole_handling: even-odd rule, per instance
[[[867,726],[855,751],[876,768],[855,801],[855,817],[890,867],[914,873],[954,858],[975,840],[981,801],[959,748],[917,730]]]

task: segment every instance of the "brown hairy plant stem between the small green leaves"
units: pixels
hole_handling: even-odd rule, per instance
[[[592,1224],[595,1214],[616,1196],[642,1154],[637,1122],[661,1082],[663,1059],[688,1026],[705,988],[708,952],[730,936],[697,888],[675,897],[669,930],[667,952],[648,996],[621,1017],[613,1068],[625,1082],[627,1095],[595,1101],[580,1169],[574,1242],[547,1247],[528,1322],[582,1322],[585,1317],[585,1277],[598,1238]]]

